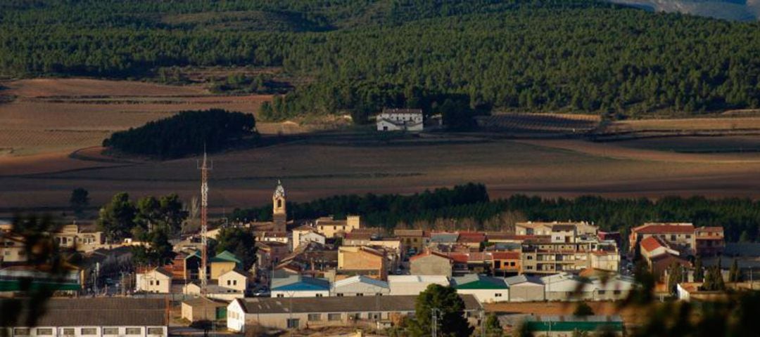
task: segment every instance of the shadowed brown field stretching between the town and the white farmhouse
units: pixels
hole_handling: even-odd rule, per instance
[[[683,154],[689,156],[688,161],[648,154],[662,153],[657,151],[645,152],[647,156],[614,155],[622,150],[625,147],[615,143],[583,140],[464,141],[453,137],[448,142],[358,143],[343,134],[305,136],[211,156],[210,204],[212,213],[219,216],[235,207],[263,205],[271,201],[277,179],[282,179],[295,201],[335,194],[406,194],[470,181],[486,184],[492,197],[518,193],[545,197],[755,197],[755,191],[760,191],[756,173],[760,154],[743,159]],[[12,209],[65,209],[75,187],[90,191],[93,208],[119,191],[135,197],[176,192],[185,200],[198,194],[197,158],[109,162],[97,153],[90,150],[81,159],[62,156],[0,165],[0,185],[6,191],[0,195],[0,216],[9,215]]]

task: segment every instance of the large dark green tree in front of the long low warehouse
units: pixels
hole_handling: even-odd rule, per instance
[[[410,335],[426,336],[432,333],[432,314],[438,317],[438,333],[442,336],[472,335],[474,328],[464,318],[464,301],[452,287],[429,285],[414,304],[414,319],[410,320]]]

